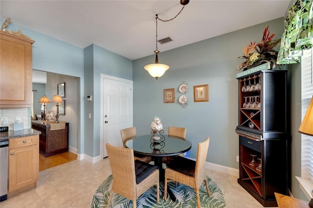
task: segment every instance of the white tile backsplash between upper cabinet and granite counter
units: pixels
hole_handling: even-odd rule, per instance
[[[8,123],[3,125],[0,120],[0,126],[9,126],[9,131],[13,129],[13,123],[17,123],[15,120],[16,117],[21,117],[21,121],[23,122],[24,128],[28,128],[28,122],[30,119],[28,118],[28,108],[0,108],[0,118],[8,117]]]

